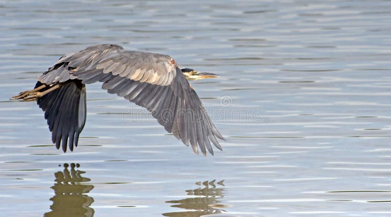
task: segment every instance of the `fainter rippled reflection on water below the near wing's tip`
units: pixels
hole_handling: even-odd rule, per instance
[[[200,217],[203,215],[225,212],[221,208],[225,208],[227,206],[220,204],[221,201],[219,200],[224,196],[224,180],[217,182],[217,187],[215,181],[216,180],[210,182],[205,181],[202,183],[203,188],[199,187],[194,190],[187,190],[187,195],[192,195],[193,197],[166,201],[166,203],[176,203],[176,205],[172,205],[172,207],[191,211],[163,213],[162,215],[168,217]],[[197,182],[195,184],[201,185],[201,182]]]

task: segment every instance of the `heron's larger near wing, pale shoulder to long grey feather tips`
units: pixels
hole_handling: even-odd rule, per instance
[[[224,139],[206,113],[195,90],[174,60],[167,55],[125,51],[121,46],[102,44],[65,55],[38,80],[53,84],[69,79],[84,84],[103,82],[102,88],[148,109],[168,132],[213,154],[211,144],[221,150]]]

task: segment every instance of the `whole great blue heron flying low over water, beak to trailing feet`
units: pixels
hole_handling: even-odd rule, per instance
[[[34,89],[11,100],[37,101],[45,112],[52,141],[73,151],[86,123],[86,84],[103,82],[102,88],[148,109],[168,132],[206,155],[211,143],[221,150],[224,140],[188,80],[217,74],[179,68],[167,55],[126,51],[116,44],[99,44],[61,57],[40,77]],[[216,138],[217,137],[217,138]]]

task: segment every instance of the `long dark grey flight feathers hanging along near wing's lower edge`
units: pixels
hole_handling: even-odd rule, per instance
[[[181,72],[177,73],[175,81],[170,86],[151,85],[113,76],[102,85],[102,88],[147,108],[165,130],[172,132],[185,145],[191,144],[196,153],[199,147],[203,154],[206,154],[206,150],[213,154],[211,144],[221,150],[216,137],[224,138],[213,125],[195,91],[188,83],[187,87],[180,86],[183,81],[178,79],[185,78],[179,74]],[[178,86],[184,89],[178,89]],[[181,94],[175,91],[181,91]]]

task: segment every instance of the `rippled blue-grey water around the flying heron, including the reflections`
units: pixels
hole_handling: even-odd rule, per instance
[[[0,216],[390,216],[391,1],[0,1]],[[30,89],[97,43],[217,72],[192,82],[226,137],[195,155],[87,87],[74,152]],[[129,123],[123,112],[134,114]]]

